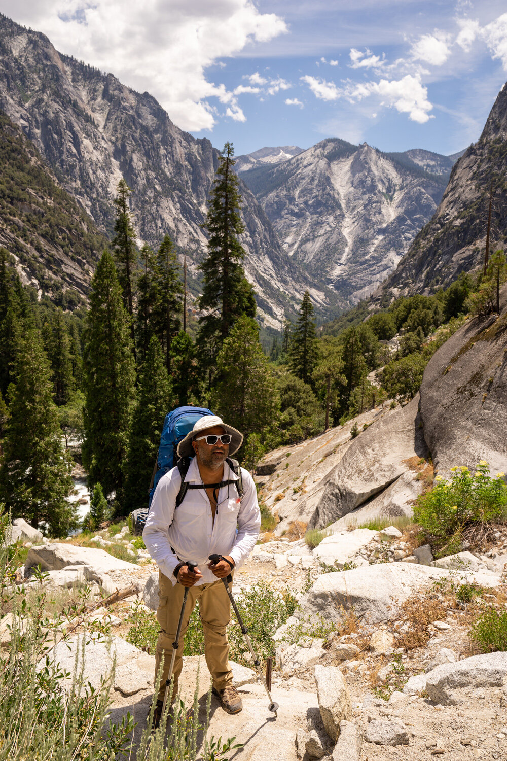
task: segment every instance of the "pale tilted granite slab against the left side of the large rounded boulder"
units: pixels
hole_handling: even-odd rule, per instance
[[[309,528],[325,527],[360,507],[407,473],[410,457],[426,454],[418,403],[417,395],[407,406],[389,412],[353,439],[329,474]]]

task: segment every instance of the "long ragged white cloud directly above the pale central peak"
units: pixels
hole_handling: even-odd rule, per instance
[[[379,82],[346,81],[339,88],[328,82],[306,75],[301,77],[315,97],[320,100],[338,100],[344,97],[349,103],[356,103],[366,97],[377,97],[379,105],[394,107],[400,113],[407,113],[413,122],[424,124],[431,119],[433,109],[428,100],[428,90],[416,76],[407,74],[398,80],[381,79]]]

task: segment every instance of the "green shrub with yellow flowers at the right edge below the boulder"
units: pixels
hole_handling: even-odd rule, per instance
[[[466,466],[454,467],[452,479],[436,476],[431,492],[420,495],[414,517],[439,554],[457,552],[464,530],[498,524],[507,518],[507,484],[504,473],[490,477],[486,460],[480,460],[474,475]]]

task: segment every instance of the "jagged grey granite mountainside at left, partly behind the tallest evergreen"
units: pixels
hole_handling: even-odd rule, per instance
[[[0,108],[21,126],[59,182],[103,232],[112,227],[112,198],[125,177],[142,240],[157,246],[169,233],[189,255],[190,274],[204,255],[208,193],[218,151],[174,125],[150,94],[138,94],[112,74],[61,56],[43,34],[0,16]],[[279,325],[315,287],[278,243],[252,193],[242,187],[246,272],[268,324]]]

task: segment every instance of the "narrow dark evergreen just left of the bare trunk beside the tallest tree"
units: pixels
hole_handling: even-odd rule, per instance
[[[183,287],[179,279],[179,263],[169,235],[157,251],[154,272],[155,303],[151,321],[154,332],[166,352],[166,368],[170,371],[171,341],[181,326]]]

